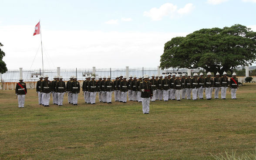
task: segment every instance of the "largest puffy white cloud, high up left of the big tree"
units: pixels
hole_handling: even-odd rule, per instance
[[[159,8],[152,8],[149,11],[145,11],[143,16],[150,17],[152,20],[162,20],[163,17],[175,17],[175,16],[182,16],[183,14],[190,13],[194,8],[192,3],[188,3],[185,7],[180,8],[172,3],[165,3]]]

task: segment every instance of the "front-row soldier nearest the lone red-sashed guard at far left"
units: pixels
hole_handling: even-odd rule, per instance
[[[44,107],[49,107],[51,96],[51,81],[48,80],[49,76],[44,76],[44,81],[41,82],[41,93],[43,94],[42,104]]]

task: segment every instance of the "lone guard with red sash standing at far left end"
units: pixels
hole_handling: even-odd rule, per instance
[[[24,108],[25,95],[27,94],[26,83],[23,82],[23,78],[20,77],[20,82],[16,84],[15,93],[18,96],[19,108]]]

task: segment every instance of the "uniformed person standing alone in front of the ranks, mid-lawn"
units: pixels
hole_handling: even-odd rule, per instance
[[[149,103],[153,96],[151,83],[148,81],[148,75],[144,75],[144,80],[140,83],[139,90],[141,91],[142,112],[149,114]]]

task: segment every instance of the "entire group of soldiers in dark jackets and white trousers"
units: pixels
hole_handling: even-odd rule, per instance
[[[129,101],[141,102],[143,113],[148,114],[150,101],[180,101],[185,98],[190,100],[191,97],[192,100],[200,100],[203,99],[203,92],[205,92],[207,100],[212,100],[212,92],[214,92],[214,98],[218,99],[219,91],[221,91],[221,99],[225,100],[228,87],[231,90],[231,98],[236,99],[236,90],[239,88],[236,73],[233,73],[230,79],[226,72],[222,75],[220,77],[220,74],[216,73],[216,77],[212,78],[210,72],[207,73],[207,77],[204,77],[203,73],[200,73],[199,77],[197,73],[194,73],[191,78],[190,74],[186,77],[184,73],[181,77],[180,74],[175,73],[156,76],[153,74],[150,80],[148,75],[143,77],[120,75],[115,80],[111,80],[110,76],[98,77],[98,80],[95,80],[94,76],[87,76],[82,86],[75,76],[71,76],[70,80],[65,83],[61,76],[55,76],[54,80],[50,81],[49,77],[45,75],[39,77],[36,91],[38,103],[44,107],[49,107],[50,97],[52,97],[54,105],[62,106],[64,94],[67,96],[68,103],[76,106],[82,88],[85,103],[95,104],[98,94],[100,103],[109,104],[112,103],[112,94],[114,94],[115,102],[126,103],[127,97]],[[27,88],[22,77],[16,85],[15,92],[19,107],[24,107]]]

